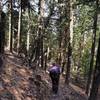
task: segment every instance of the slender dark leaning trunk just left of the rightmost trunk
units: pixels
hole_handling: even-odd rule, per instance
[[[94,24],[93,24],[93,40],[92,40],[92,48],[91,48],[91,58],[90,58],[90,69],[88,74],[87,86],[86,86],[86,94],[89,94],[92,73],[93,73],[93,65],[94,65],[94,53],[95,53],[95,42],[96,42],[96,29],[97,29],[97,17],[98,17],[98,1],[96,1],[96,11],[94,15]]]

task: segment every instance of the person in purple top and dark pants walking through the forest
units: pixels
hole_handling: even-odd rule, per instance
[[[52,67],[49,69],[49,72],[52,80],[52,91],[54,94],[57,94],[60,78],[60,66],[53,63]]]

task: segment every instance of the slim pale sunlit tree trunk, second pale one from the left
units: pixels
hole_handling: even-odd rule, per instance
[[[18,42],[17,42],[17,52],[20,53],[20,42],[21,42],[21,24],[22,24],[22,1],[20,0],[19,8],[19,21],[18,21]]]

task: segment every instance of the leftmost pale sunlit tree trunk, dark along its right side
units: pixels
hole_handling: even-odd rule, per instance
[[[12,30],[12,0],[9,0],[9,51],[12,52],[13,30]]]

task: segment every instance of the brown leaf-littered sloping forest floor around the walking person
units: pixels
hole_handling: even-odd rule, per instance
[[[12,54],[5,56],[0,73],[0,100],[87,100],[84,90],[72,83],[65,85],[62,75],[54,95],[47,72],[22,65]]]

